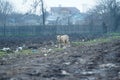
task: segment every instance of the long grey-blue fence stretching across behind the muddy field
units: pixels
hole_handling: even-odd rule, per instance
[[[0,36],[52,36],[90,33],[102,33],[102,27],[89,25],[0,26]]]

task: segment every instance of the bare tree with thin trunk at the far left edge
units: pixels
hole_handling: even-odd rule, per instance
[[[6,36],[6,20],[8,17],[8,14],[12,12],[12,5],[4,0],[0,0],[0,16],[1,16],[1,21],[2,24],[4,25],[4,36]]]

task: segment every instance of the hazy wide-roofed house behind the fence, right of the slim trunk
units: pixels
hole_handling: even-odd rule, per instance
[[[80,24],[84,19],[84,15],[76,7],[51,7],[50,15],[46,19],[49,25],[70,25]],[[80,21],[80,22],[79,22]],[[82,22],[83,23],[83,22]]]

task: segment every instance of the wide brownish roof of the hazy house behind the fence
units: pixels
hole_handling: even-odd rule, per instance
[[[76,7],[51,7],[51,12],[56,13],[70,13],[70,14],[76,14],[80,13],[80,10],[78,10]]]

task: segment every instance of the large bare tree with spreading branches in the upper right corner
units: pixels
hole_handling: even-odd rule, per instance
[[[94,15],[101,24],[105,23],[109,26],[109,30],[117,31],[120,22],[120,1],[119,0],[99,0],[98,5],[92,9],[91,14]]]

